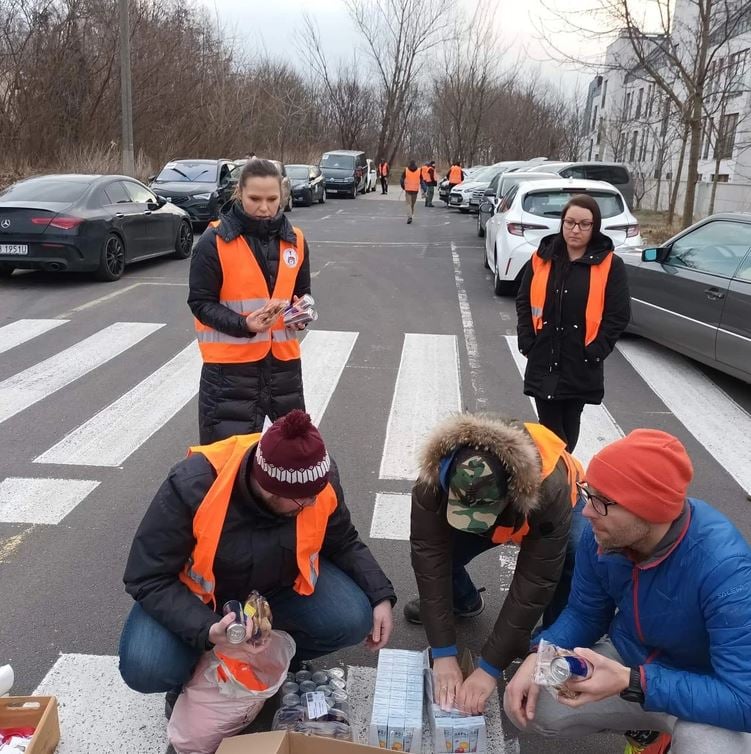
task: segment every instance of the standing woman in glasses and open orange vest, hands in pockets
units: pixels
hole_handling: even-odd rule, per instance
[[[516,299],[524,394],[570,453],[584,404],[602,402],[604,361],[631,317],[626,269],[601,224],[597,202],[574,196],[560,232],[532,255]]]

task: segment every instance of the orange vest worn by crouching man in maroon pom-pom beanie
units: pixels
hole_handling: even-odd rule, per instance
[[[259,433],[235,435],[211,445],[194,445],[189,455],[201,453],[216,471],[216,479],[198,506],[193,517],[196,544],[180,574],[180,581],[205,604],[216,610],[214,592],[214,558],[227,517],[232,489],[245,454],[260,440]],[[299,574],[294,589],[308,596],[315,591],[319,573],[319,553],[326,535],[326,526],[337,507],[336,492],[327,484],[296,518],[296,552]]]

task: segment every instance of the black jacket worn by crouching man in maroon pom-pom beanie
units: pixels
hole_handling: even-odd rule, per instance
[[[253,496],[248,451],[235,481],[214,561],[217,607],[244,600],[257,589],[273,597],[298,575],[295,518],[275,516]],[[193,552],[193,517],[216,474],[205,456],[194,454],[172,468],[138,527],[125,568],[125,588],[155,620],[184,642],[208,649],[209,628],[221,616],[196,599],[179,580]],[[329,481],[338,506],[329,518],[321,556],[344,571],[372,605],[396,602],[394,588],[352,524],[336,464]],[[281,626],[280,626],[281,628]]]

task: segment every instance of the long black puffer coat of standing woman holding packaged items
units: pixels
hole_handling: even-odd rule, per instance
[[[279,239],[295,242],[291,223],[280,211],[271,220],[255,220],[237,202],[225,207],[217,228],[208,228],[193,252],[190,264],[188,306],[209,327],[238,338],[252,338],[245,318],[219,303],[222,268],[216,236],[232,241],[242,235],[273,291],[279,267]],[[310,293],[310,253],[295,283],[295,295]],[[202,444],[237,434],[257,432],[265,416],[271,421],[294,408],[305,408],[299,360],[279,361],[269,354],[262,361],[244,364],[204,364],[198,394],[198,426]]]

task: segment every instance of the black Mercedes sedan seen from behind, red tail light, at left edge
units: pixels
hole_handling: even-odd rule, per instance
[[[122,175],[45,175],[0,192],[0,276],[14,269],[96,272],[161,254],[187,259],[193,229],[183,210]]]

